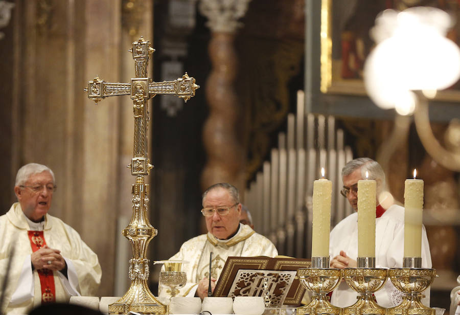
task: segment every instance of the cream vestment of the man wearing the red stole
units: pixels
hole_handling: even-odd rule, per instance
[[[29,220],[30,221],[30,220]],[[56,302],[68,302],[71,296],[95,295],[101,282],[97,255],[80,238],[77,231],[62,220],[46,214],[41,224],[46,244],[57,249],[67,264],[67,278],[53,272]],[[41,286],[37,270],[32,270],[28,231],[31,226],[18,202],[0,216],[0,284],[3,284],[11,259],[5,303],[2,313],[27,313],[41,304]],[[10,257],[12,250],[13,256]]]

